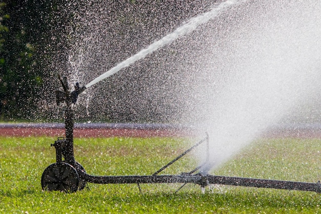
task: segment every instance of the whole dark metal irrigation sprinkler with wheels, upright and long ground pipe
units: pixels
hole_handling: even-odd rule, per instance
[[[66,137],[58,138],[51,146],[56,150],[56,163],[49,165],[43,172],[41,184],[43,190],[47,191],[65,191],[75,192],[86,187],[87,183],[95,184],[139,184],[144,183],[182,183],[183,186],[187,183],[198,184],[205,187],[209,184],[224,184],[232,186],[246,186],[258,188],[274,188],[274,189],[288,189],[288,190],[302,190],[315,191],[321,193],[321,183],[306,183],[293,181],[278,181],[267,179],[252,179],[239,177],[215,176],[199,172],[199,170],[208,164],[209,161],[209,136],[200,140],[195,145],[178,155],[171,162],[154,172],[149,176],[93,176],[88,174],[84,167],[75,161],[73,153],[73,128],[74,128],[74,113],[72,104],[75,104],[77,97],[86,87],[79,87],[76,84],[75,90],[70,91],[66,77],[61,79],[59,77],[64,91],[56,91],[57,105],[65,103],[65,130]],[[204,164],[197,166],[190,172],[182,172],[180,174],[159,175],[164,169],[184,157],[185,154],[192,151],[200,144],[206,143],[207,157]],[[183,187],[182,186],[182,187]],[[182,188],[180,187],[180,188]],[[180,189],[179,188],[179,189]],[[179,190],[178,189],[178,190]],[[178,191],[177,190],[177,191]]]

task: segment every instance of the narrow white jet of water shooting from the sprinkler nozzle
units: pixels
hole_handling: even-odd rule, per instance
[[[96,77],[96,79],[94,79],[93,81],[91,81],[90,83],[88,83],[86,85],[86,88],[89,88],[90,86],[92,86],[92,85],[94,85],[94,84],[106,79],[108,76],[118,72],[122,68],[128,67],[129,65],[131,65],[134,62],[136,62],[137,60],[140,60],[140,59],[144,58],[147,54],[152,53],[155,50],[157,50],[157,49],[159,49],[159,48],[161,48],[161,47],[163,47],[163,46],[165,46],[167,44],[172,43],[178,37],[191,33],[199,25],[207,23],[209,20],[211,20],[212,18],[218,16],[221,12],[227,10],[231,6],[236,5],[236,4],[240,4],[240,3],[245,2],[245,1],[246,0],[243,0],[243,1],[228,0],[226,2],[220,3],[217,7],[212,8],[210,11],[208,11],[206,13],[203,13],[203,14],[200,14],[200,15],[194,17],[194,18],[191,18],[190,21],[188,21],[183,26],[178,27],[172,33],[164,36],[160,40],[158,40],[158,41],[154,42],[153,44],[151,44],[150,46],[148,46],[146,49],[143,49],[143,50],[139,51],[135,55],[129,57],[127,60],[119,63],[118,65],[116,65],[115,67],[111,68],[107,72],[105,72],[102,75]]]

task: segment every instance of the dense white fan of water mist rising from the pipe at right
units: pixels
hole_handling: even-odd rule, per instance
[[[209,39],[202,77],[192,84],[211,167],[321,95],[320,2],[253,1],[227,17],[229,28],[219,33],[225,37]]]

